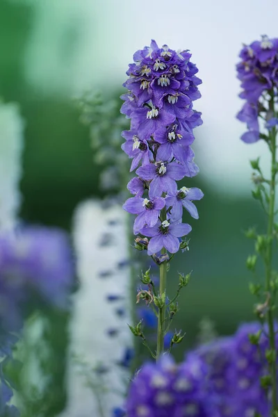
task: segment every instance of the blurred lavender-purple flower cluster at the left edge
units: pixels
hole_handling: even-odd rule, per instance
[[[24,318],[34,309],[68,306],[74,265],[67,236],[57,229],[27,227],[0,236],[0,415],[17,417],[4,365],[13,360]],[[15,336],[17,334],[17,336]]]

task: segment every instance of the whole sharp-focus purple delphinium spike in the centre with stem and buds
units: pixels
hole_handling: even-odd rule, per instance
[[[181,238],[191,231],[189,224],[182,223],[182,208],[197,218],[193,201],[203,197],[198,188],[177,186],[177,181],[194,177],[199,171],[190,145],[193,128],[202,124],[201,113],[193,110],[193,101],[201,96],[197,85],[202,81],[195,75],[198,70],[190,57],[188,51],[174,51],[167,45],[159,48],[152,40],[150,47],[134,54],[134,63],[126,72],[129,79],[124,83],[129,91],[122,96],[121,111],[131,119],[131,129],[122,132],[126,140],[122,149],[132,159],[131,171],[137,174],[127,185],[134,197],[125,202],[124,209],[137,215],[133,226],[138,235],[136,247],[147,249],[160,265],[159,291],[146,273],[142,283],[147,284],[148,291],[138,293],[158,316],[157,349],[153,354],[157,359],[164,350],[167,327],[177,312],[176,297],[166,298],[167,265],[180,248],[188,246]],[[180,276],[179,291],[188,278]],[[131,330],[146,343],[141,323]],[[181,339],[179,332],[171,344]]]

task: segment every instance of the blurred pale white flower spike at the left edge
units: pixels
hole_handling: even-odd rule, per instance
[[[17,104],[0,101],[0,230],[13,229],[17,221],[23,131]]]

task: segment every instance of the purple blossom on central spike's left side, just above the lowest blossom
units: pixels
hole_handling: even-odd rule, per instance
[[[165,199],[162,197],[154,197],[152,200],[132,197],[126,200],[123,208],[131,214],[138,214],[133,227],[134,234],[138,234],[145,224],[149,227],[154,227],[156,225],[158,222],[158,215],[164,206]]]

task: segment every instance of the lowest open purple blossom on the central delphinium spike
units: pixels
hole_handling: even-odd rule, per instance
[[[143,227],[140,233],[151,238],[147,250],[148,255],[156,254],[163,247],[174,254],[179,250],[178,238],[188,235],[191,229],[189,224],[169,223],[164,220],[162,223],[158,222],[154,227]]]

